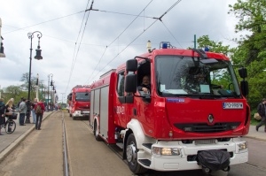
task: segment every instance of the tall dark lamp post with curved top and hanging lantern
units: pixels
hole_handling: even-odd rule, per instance
[[[30,123],[29,116],[30,116],[30,84],[31,84],[31,60],[32,60],[32,39],[34,38],[34,34],[37,34],[38,37],[38,47],[36,49],[36,56],[35,59],[41,60],[43,57],[41,56],[42,50],[40,50],[40,38],[43,36],[43,34],[39,31],[35,31],[33,33],[28,33],[27,37],[30,39],[30,55],[29,55],[29,73],[28,73],[28,91],[27,91],[27,118],[25,123]]]

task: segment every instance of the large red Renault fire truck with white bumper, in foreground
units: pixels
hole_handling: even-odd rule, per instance
[[[137,89],[145,75],[149,93]],[[223,54],[161,42],[90,85],[90,126],[96,140],[123,150],[134,173],[227,172],[248,160],[246,76]]]

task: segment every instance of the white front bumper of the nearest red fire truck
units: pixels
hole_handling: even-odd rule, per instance
[[[180,155],[178,156],[161,156],[147,152],[146,149],[141,149],[137,153],[138,163],[145,168],[156,171],[184,171],[202,169],[197,161],[198,151],[223,149],[230,153],[230,165],[246,163],[248,160],[248,150],[239,150],[239,143],[243,141],[239,138],[231,139],[230,142],[216,142],[215,144],[183,144],[182,142],[158,142],[157,147],[179,148]],[[148,162],[147,162],[148,161]],[[147,165],[149,164],[149,165]]]

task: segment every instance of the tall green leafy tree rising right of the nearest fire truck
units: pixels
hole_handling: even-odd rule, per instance
[[[247,100],[254,110],[262,97],[266,97],[266,1],[238,0],[230,8],[229,13],[239,19],[236,33],[246,33],[236,40],[239,47],[231,58],[234,63],[246,65],[249,82]]]

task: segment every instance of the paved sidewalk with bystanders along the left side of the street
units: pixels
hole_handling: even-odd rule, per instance
[[[43,113],[43,120],[49,117],[52,112],[53,111],[45,111]],[[4,131],[5,129],[1,129],[1,133],[4,135],[0,136],[0,162],[12,151],[12,149],[15,149],[15,147],[23,141],[27,134],[35,129],[35,124],[20,126],[19,119],[20,117],[18,116],[18,119],[15,120],[17,127],[12,134],[6,134]]]

